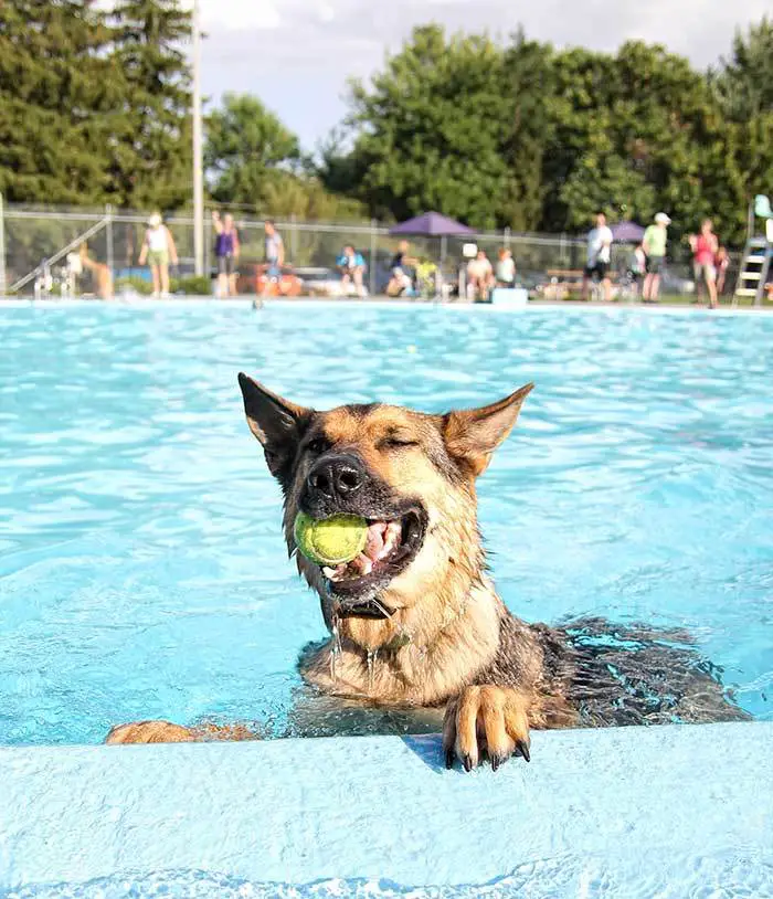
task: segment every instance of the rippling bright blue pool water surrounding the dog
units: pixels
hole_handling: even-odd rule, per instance
[[[318,408],[534,380],[479,491],[510,609],[687,626],[773,718],[772,346],[764,316],[0,308],[0,742],[152,717],[286,731],[325,632],[240,369]]]

